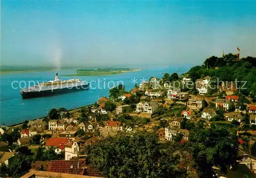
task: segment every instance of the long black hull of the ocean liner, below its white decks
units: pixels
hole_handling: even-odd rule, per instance
[[[44,91],[34,91],[34,92],[20,92],[22,94],[23,99],[35,98],[35,97],[45,97],[45,96],[53,96],[64,93],[71,93],[80,90],[89,90],[89,84],[85,84],[79,87],[73,88],[62,88],[62,89],[53,89],[53,90],[44,90]]]

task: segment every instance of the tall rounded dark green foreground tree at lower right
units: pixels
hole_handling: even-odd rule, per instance
[[[199,177],[212,177],[212,166],[226,172],[237,164],[238,138],[225,128],[196,129],[189,133],[188,149]]]

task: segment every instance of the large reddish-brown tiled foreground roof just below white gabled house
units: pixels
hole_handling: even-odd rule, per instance
[[[80,174],[82,169],[79,168],[77,160],[55,160],[50,161],[48,166],[49,172],[59,172],[68,174]]]

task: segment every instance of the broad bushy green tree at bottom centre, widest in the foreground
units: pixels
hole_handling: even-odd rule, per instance
[[[162,150],[154,133],[143,132],[108,137],[88,146],[86,154],[104,177],[186,177],[185,169],[177,168],[180,157],[174,150]]]

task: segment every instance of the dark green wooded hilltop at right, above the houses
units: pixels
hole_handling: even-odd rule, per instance
[[[195,82],[209,75],[217,81],[233,81],[238,82],[246,81],[244,88],[241,92],[256,98],[256,58],[247,57],[236,61],[237,57],[233,54],[227,54],[222,58],[212,56],[207,58],[202,66],[195,66],[188,72],[190,78]]]

